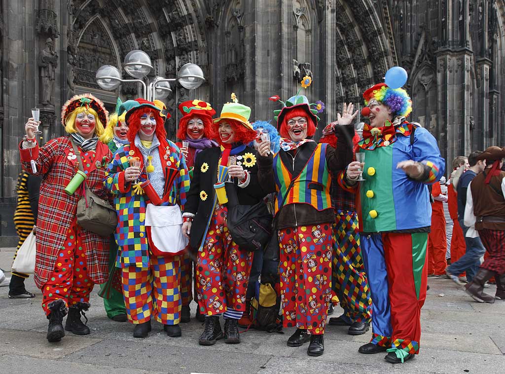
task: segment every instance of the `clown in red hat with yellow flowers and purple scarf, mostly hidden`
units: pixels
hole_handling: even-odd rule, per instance
[[[184,154],[189,173],[192,175],[196,155],[207,148],[218,146],[216,142],[211,140],[213,136],[212,117],[216,114],[216,111],[212,109],[209,103],[200,100],[189,100],[179,104],[179,111],[182,117],[179,120],[177,137],[183,142],[187,142],[188,146],[183,147],[182,142],[177,143],[177,146]],[[188,247],[183,257],[181,268],[181,322],[189,322],[190,320],[189,304],[193,300],[193,268],[196,273],[195,255]],[[196,295],[196,285],[194,294]],[[199,308],[196,308],[196,319],[201,322],[204,321],[204,316],[200,314]]]

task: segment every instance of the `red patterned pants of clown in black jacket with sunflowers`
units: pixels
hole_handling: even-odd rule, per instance
[[[226,226],[228,210],[217,205],[204,246],[198,252],[196,282],[198,306],[204,315],[224,313],[239,319],[245,310],[245,293],[252,252],[241,250]]]

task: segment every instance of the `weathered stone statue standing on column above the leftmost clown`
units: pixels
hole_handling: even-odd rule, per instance
[[[58,54],[53,51],[54,41],[47,38],[45,48],[38,54],[40,69],[40,103],[54,105],[53,95],[55,88],[55,70],[58,66]]]

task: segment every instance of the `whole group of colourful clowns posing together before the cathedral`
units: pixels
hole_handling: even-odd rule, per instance
[[[301,85],[311,82],[305,77]],[[43,177],[35,282],[49,319],[47,339],[90,333],[80,317],[100,284],[109,318],[133,323],[134,337],[148,336],[153,319],[169,337],[180,337],[194,298],[194,316],[205,322],[200,345],[240,343],[263,253],[235,243],[227,202],[216,190],[224,182],[241,205],[272,203],[282,321],[296,328],[289,347],[310,342],[309,355],[323,354],[338,298],[344,313],[329,324],[348,326],[351,335],[372,324],[361,353],[387,351],[392,363],[419,353],[428,185],[444,172],[435,138],[406,120],[407,92],[380,83],[363,95],[362,114],[370,120],[363,137],[355,131],[358,111],[348,104],[318,143],[324,104],[298,94],[285,102],[270,98],[273,125],[250,123],[250,108],[234,94],[218,118],[206,101],[183,102],[179,143],[167,138],[170,114],[160,101],[118,100],[109,116],[92,95],[75,96],[62,110],[68,136],[40,147],[29,119],[20,153],[23,168]],[[79,160],[86,186],[116,209],[111,238],[77,224],[84,189],[64,189]]]

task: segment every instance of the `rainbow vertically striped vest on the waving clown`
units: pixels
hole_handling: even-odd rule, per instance
[[[319,211],[331,208],[331,175],[326,165],[326,146],[326,143],[318,144],[304,169],[294,179],[284,205],[310,204]],[[275,189],[277,191],[274,214],[277,214],[282,208],[282,201],[292,180],[292,175],[282,163],[279,153],[274,157]]]

